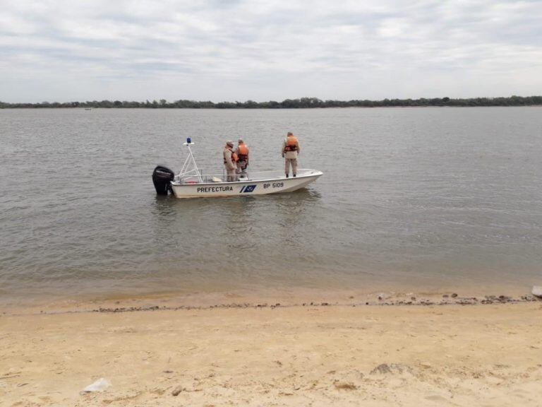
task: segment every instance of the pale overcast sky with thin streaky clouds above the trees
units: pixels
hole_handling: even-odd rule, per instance
[[[0,0],[0,100],[542,94],[542,1]]]

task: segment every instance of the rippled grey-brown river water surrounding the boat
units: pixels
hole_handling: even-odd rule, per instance
[[[251,170],[324,172],[275,196],[156,196],[195,141]],[[542,281],[540,107],[0,110],[0,297],[445,290]]]

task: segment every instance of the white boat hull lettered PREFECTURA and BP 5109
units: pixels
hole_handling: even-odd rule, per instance
[[[201,182],[186,184],[171,182],[171,189],[176,198],[214,198],[224,196],[249,196],[280,194],[296,191],[314,182],[322,172],[306,170],[297,177],[279,177],[270,179],[249,179],[235,182]]]

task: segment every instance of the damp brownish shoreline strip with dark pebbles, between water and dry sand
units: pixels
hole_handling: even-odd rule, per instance
[[[502,292],[502,291],[500,291]],[[153,294],[139,296],[112,296],[85,299],[47,300],[17,305],[1,305],[3,315],[67,314],[76,312],[137,312],[178,309],[224,309],[224,308],[275,308],[275,307],[378,307],[378,306],[447,306],[447,305],[493,305],[542,302],[541,297],[531,293],[515,295],[459,295],[454,291],[445,293],[359,293],[350,290],[295,291],[282,294],[247,295],[241,293],[198,293],[191,295]]]

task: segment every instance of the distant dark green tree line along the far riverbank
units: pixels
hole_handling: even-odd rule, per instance
[[[421,98],[421,99],[384,99],[384,100],[320,100],[318,98],[286,99],[282,102],[211,102],[196,100],[165,99],[150,102],[128,102],[126,100],[92,100],[92,102],[41,102],[41,103],[6,103],[0,102],[0,108],[40,108],[40,107],[102,107],[102,108],[145,108],[145,109],[306,109],[312,107],[411,107],[411,106],[539,106],[542,96],[510,96],[510,98]]]

